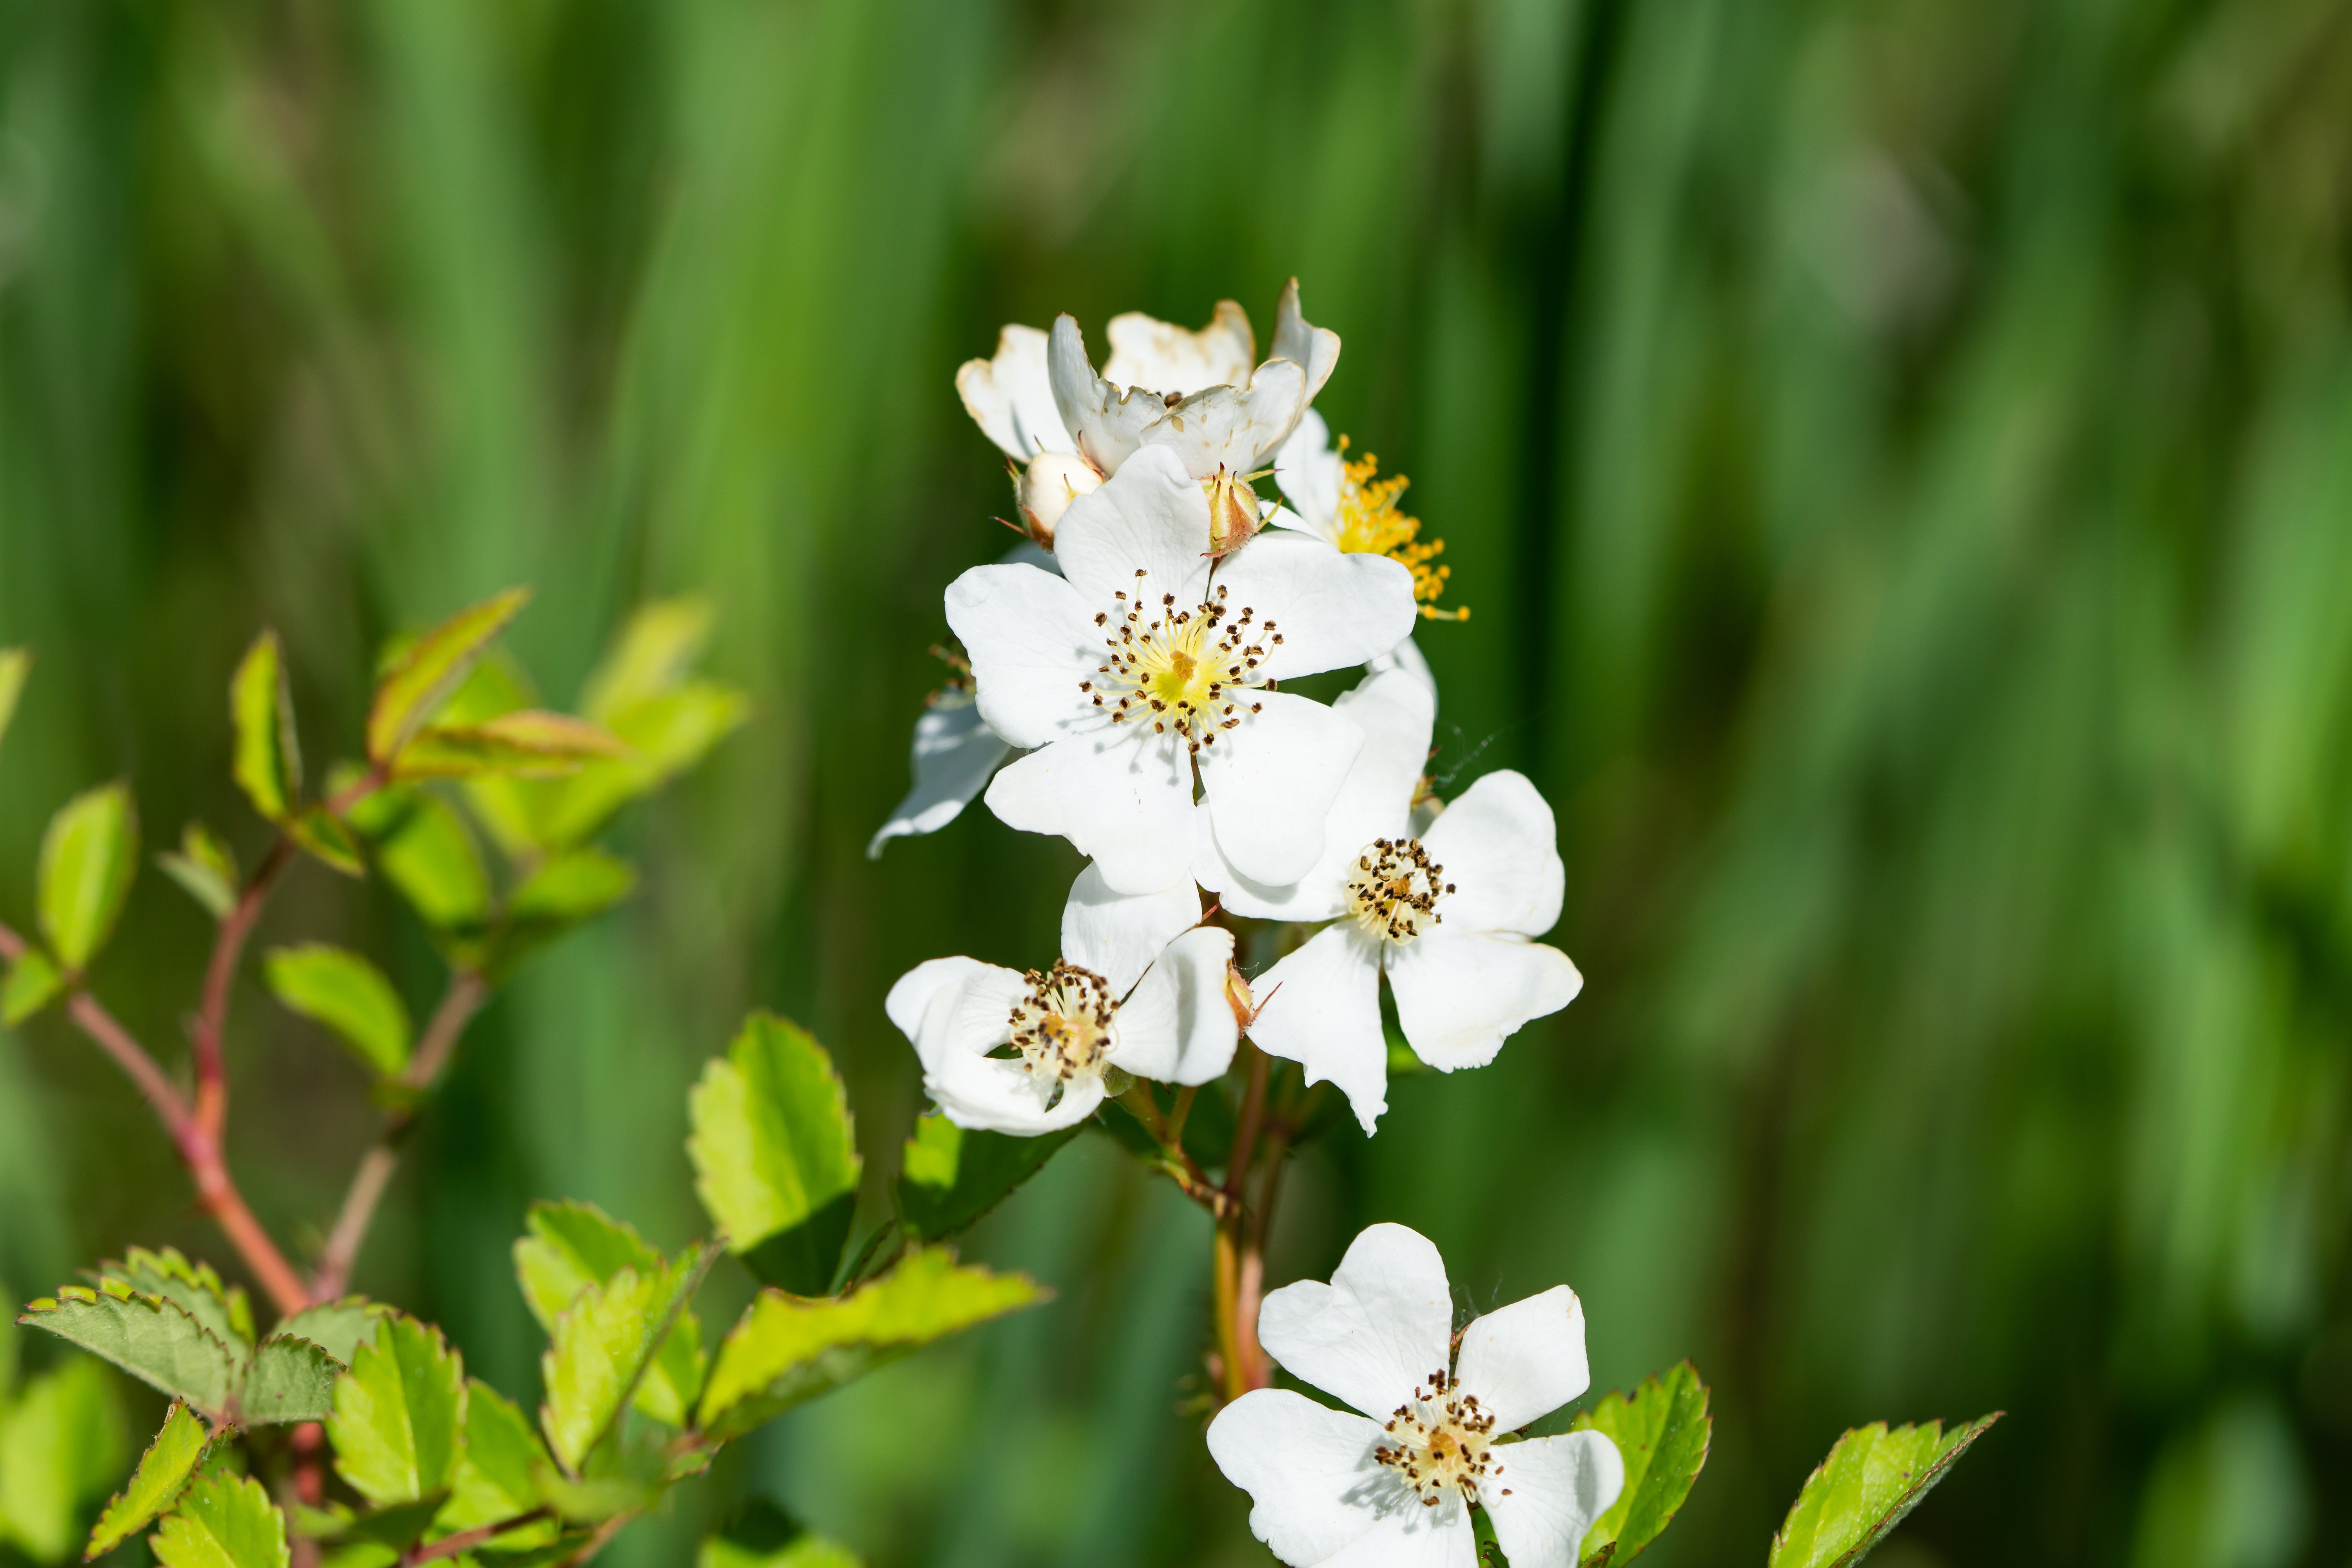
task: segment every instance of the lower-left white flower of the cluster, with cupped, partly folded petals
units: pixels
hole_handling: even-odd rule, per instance
[[[884,1011],[957,1126],[1035,1138],[1091,1117],[1112,1067],[1207,1084],[1232,1065],[1232,933],[1200,924],[1192,884],[1122,896],[1089,865],[1061,912],[1061,952],[1025,976],[931,959],[891,987]]]

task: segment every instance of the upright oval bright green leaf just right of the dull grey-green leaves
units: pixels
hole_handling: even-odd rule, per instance
[[[466,1368],[440,1328],[390,1314],[334,1385],[334,1467],[376,1507],[449,1490],[466,1422]]]

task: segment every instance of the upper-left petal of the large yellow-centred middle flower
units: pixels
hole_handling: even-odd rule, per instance
[[[1103,637],[1087,602],[1051,571],[974,567],[948,583],[948,625],[971,656],[981,717],[1011,745],[1098,724],[1077,684],[1103,663]]]

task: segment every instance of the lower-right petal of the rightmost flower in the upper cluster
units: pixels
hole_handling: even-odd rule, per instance
[[[1414,1056],[1430,1067],[1484,1067],[1519,1025],[1557,1013],[1585,987],[1559,947],[1524,936],[1456,931],[1451,910],[1444,903],[1437,907],[1449,924],[1392,943],[1385,954],[1397,1025]]]

